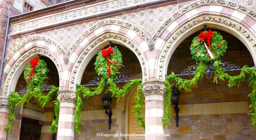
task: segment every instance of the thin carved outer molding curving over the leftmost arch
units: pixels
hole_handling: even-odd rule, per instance
[[[24,41],[21,41],[17,46],[15,46],[12,51],[6,56],[6,58],[4,59],[4,66],[5,64],[7,63],[8,60],[10,60],[12,58],[12,56],[22,47],[24,46],[25,44],[27,44],[28,42],[31,42],[33,40],[44,40],[44,41],[47,41],[49,43],[51,43],[52,45],[56,46],[60,52],[62,53],[63,56],[65,56],[66,52],[65,50],[63,49],[62,46],[60,46],[56,41],[54,41],[54,39],[51,39],[49,37],[46,37],[46,36],[42,36],[42,35],[33,35],[33,36],[30,36],[28,37],[27,39],[25,39]]]

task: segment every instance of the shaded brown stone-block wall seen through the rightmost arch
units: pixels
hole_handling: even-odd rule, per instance
[[[209,29],[207,29],[209,30]],[[221,57],[222,62],[229,65],[253,67],[253,59],[244,46],[244,44],[230,33],[217,31],[223,35],[223,39],[228,41],[228,49],[224,56]],[[203,30],[191,34],[189,37],[180,41],[181,43],[173,52],[169,61],[167,74],[174,72],[179,74],[184,72],[191,66],[196,66],[196,61],[190,55],[190,44],[192,39],[200,34]],[[227,67],[225,65],[224,67]],[[193,70],[193,69],[192,69]],[[240,71],[229,71],[229,75],[238,75]],[[185,74],[180,76],[183,79],[192,79],[193,74]],[[171,125],[168,131],[171,137],[167,139],[228,139],[228,137],[252,138],[255,129],[250,125],[250,116],[248,113],[248,105],[250,98],[248,94],[252,89],[248,87],[247,82],[242,82],[237,87],[228,88],[227,81],[213,82],[214,73],[206,75],[202,81],[198,81],[195,86],[191,87],[192,91],[180,91],[180,127],[175,126],[175,112],[172,109]],[[252,128],[250,136],[238,136],[238,133],[244,133],[244,128]]]

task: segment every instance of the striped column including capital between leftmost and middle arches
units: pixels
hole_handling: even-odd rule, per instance
[[[62,89],[59,91],[58,99],[60,101],[60,113],[57,140],[74,140],[76,91]]]

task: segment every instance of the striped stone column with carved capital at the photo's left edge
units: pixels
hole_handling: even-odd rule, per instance
[[[8,97],[0,96],[0,140],[7,140],[7,131],[4,127],[8,124],[9,105]]]

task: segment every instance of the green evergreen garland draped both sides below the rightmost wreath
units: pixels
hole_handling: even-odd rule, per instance
[[[249,75],[249,86],[252,87],[252,93],[248,96],[252,100],[252,104],[249,106],[252,108],[250,110],[249,115],[251,115],[252,125],[256,126],[256,83],[255,83],[255,74],[256,71],[253,67],[247,67],[244,66],[241,70],[241,73],[236,76],[230,76],[227,73],[224,73],[223,68],[221,67],[222,63],[219,60],[214,61],[213,67],[216,69],[215,76],[214,76],[214,82],[218,83],[218,79],[220,80],[228,80],[228,87],[233,87],[236,85],[239,85],[241,82],[244,81],[244,78],[247,75]],[[171,108],[169,98],[172,94],[172,85],[175,85],[176,87],[179,87],[179,89],[184,89],[185,91],[191,91],[191,86],[195,85],[198,80],[202,80],[203,74],[207,71],[206,64],[200,62],[198,64],[198,67],[196,68],[196,74],[195,77],[191,80],[185,80],[177,77],[174,73],[168,75],[165,78],[165,84],[166,84],[166,101],[165,101],[165,110],[164,110],[164,118],[163,118],[163,126],[165,127],[166,124],[170,124],[170,118],[171,118]],[[170,84],[169,81],[172,81],[173,84]]]

